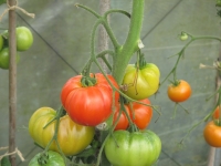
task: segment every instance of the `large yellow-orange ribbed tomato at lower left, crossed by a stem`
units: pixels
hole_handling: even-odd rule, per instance
[[[46,147],[55,132],[55,122],[43,128],[56,115],[51,107],[36,110],[29,121],[29,133],[31,137],[42,147]],[[62,152],[66,156],[75,155],[85,149],[94,137],[95,128],[82,126],[73,122],[69,115],[60,118],[57,141]],[[55,142],[50,147],[59,152]]]

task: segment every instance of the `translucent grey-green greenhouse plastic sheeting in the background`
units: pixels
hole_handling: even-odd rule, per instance
[[[30,116],[42,106],[59,108],[60,92],[63,84],[83,69],[90,58],[91,30],[96,18],[87,11],[76,8],[75,3],[98,10],[98,0],[19,0],[18,6],[34,13],[32,19],[17,10],[17,24],[31,29],[34,43],[29,51],[20,52],[17,79],[17,147],[25,162],[17,157],[18,166],[27,166],[39,147],[28,132]],[[162,81],[175,66],[177,56],[186,42],[178,34],[187,31],[193,35],[220,37],[221,19],[217,15],[214,0],[146,0],[141,40],[148,62],[159,66]],[[112,0],[110,8],[130,12],[131,0]],[[0,7],[3,12],[7,6]],[[119,42],[125,41],[129,19],[114,13],[110,24]],[[1,29],[8,29],[8,15],[3,15]],[[112,44],[110,44],[112,48]],[[215,90],[215,71],[199,69],[199,64],[212,65],[220,54],[220,43],[215,40],[199,40],[191,43],[179,62],[177,76],[191,84],[192,95],[181,103],[187,114],[178,105],[172,117],[175,103],[167,97],[166,81],[156,96],[150,97],[159,105],[161,115],[155,112],[149,129],[159,135],[162,151],[158,166],[206,166],[210,146],[203,139],[201,123],[180,145],[187,132],[214,107],[214,98],[206,101]],[[171,58],[170,58],[171,56]],[[135,62],[131,59],[131,63]],[[97,71],[94,68],[94,71]],[[0,147],[8,146],[9,133],[9,72],[0,70]],[[169,77],[172,79],[172,77]],[[3,154],[3,152],[0,152]]]

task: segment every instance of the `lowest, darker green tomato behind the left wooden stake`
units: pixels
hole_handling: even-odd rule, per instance
[[[0,51],[0,68],[8,70],[9,69],[9,48],[4,48]],[[17,54],[17,63],[20,60],[20,55]]]

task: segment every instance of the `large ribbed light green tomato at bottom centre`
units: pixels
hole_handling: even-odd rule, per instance
[[[151,131],[116,131],[104,151],[113,166],[151,166],[160,155],[161,141]]]

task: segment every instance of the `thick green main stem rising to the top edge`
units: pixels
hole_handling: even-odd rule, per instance
[[[113,64],[113,75],[118,84],[122,84],[125,69],[133,54],[139,49],[140,31],[144,18],[145,0],[133,0],[131,19],[127,39],[119,50]]]

